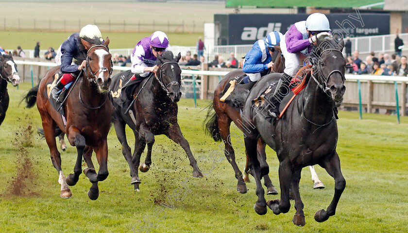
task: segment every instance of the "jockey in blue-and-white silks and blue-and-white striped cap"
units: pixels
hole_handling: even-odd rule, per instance
[[[272,55],[275,52],[275,46],[279,46],[283,38],[282,33],[271,32],[264,40],[255,42],[252,49],[245,55],[242,70],[248,76],[244,78],[243,83],[258,81],[261,78],[261,72],[273,66]]]

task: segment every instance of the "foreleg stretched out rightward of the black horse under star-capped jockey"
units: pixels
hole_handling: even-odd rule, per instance
[[[190,166],[193,167],[193,177],[203,177],[203,174],[198,169],[197,161],[190,150],[190,145],[181,133],[180,126],[177,124],[177,122],[175,122],[168,128],[166,135],[175,143],[179,144],[184,149],[184,151],[186,151],[187,158],[190,161]]]

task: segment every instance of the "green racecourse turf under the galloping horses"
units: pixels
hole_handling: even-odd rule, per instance
[[[108,135],[110,173],[99,183],[99,199],[88,199],[86,192],[91,184],[83,174],[71,187],[73,196],[61,199],[58,175],[51,164],[47,144],[34,130],[27,130],[28,126],[40,127],[39,113],[36,107],[18,106],[22,94],[29,88],[29,83],[22,83],[18,90],[9,86],[10,107],[0,127],[0,232],[130,233],[137,221],[153,216],[153,211],[161,206],[156,203],[168,203],[168,195],[191,177],[192,168],[181,147],[165,136],[156,136],[153,165],[149,172],[139,173],[141,192],[135,193],[130,185],[129,167],[112,130]],[[222,150],[219,143],[204,135],[201,129],[205,115],[202,110],[207,104],[208,101],[199,100],[198,107],[194,108],[192,100],[179,102],[179,124],[196,159]],[[300,192],[305,204],[306,226],[298,228],[291,222],[295,213],[293,202],[287,214],[275,216],[269,211],[265,216],[258,216],[253,209],[257,199],[254,179],[247,184],[248,193],[239,194],[235,190],[237,180],[233,169],[224,159],[204,178],[194,179],[197,186],[189,186],[191,193],[187,193],[184,200],[173,200],[174,209],[161,206],[166,215],[161,221],[151,217],[152,224],[157,224],[155,228],[146,226],[150,232],[157,233],[406,232],[408,117],[402,117],[398,125],[395,116],[364,114],[364,120],[358,120],[357,113],[340,112],[339,116],[337,150],[347,185],[336,215],[326,222],[318,223],[313,218],[317,210],[327,208],[334,193],[334,181],[321,167],[316,170],[325,189],[313,190],[310,172],[307,168],[302,172]],[[31,136],[30,132],[33,132]],[[132,145],[132,133],[127,134]],[[73,171],[75,151],[68,146],[67,152],[62,153],[66,175]],[[271,149],[267,154],[272,183],[280,191],[277,158]],[[236,157],[242,168],[243,149],[237,151]],[[24,158],[31,161],[31,168],[18,162]],[[205,167],[210,166],[207,160],[204,162]],[[26,178],[24,175],[19,178],[27,186],[22,189],[23,195],[11,195],[11,184],[19,173],[27,174]],[[275,198],[278,197],[267,197],[267,200]]]

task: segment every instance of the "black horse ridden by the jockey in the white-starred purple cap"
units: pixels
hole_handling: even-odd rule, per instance
[[[145,162],[139,167],[140,171],[147,172],[152,164],[151,155],[154,143],[154,135],[165,134],[175,143],[179,144],[187,153],[190,166],[193,167],[193,177],[202,177],[203,174],[197,167],[197,161],[191,153],[190,146],[180,131],[177,123],[177,102],[180,100],[181,92],[181,69],[178,65],[180,53],[174,58],[171,51],[165,51],[158,56],[157,73],[145,78],[132,92],[135,101],[132,102],[129,111],[125,113],[123,106],[113,100],[118,92],[111,91],[111,103],[114,108],[112,122],[116,135],[122,145],[122,153],[130,167],[132,177],[131,184],[135,185],[135,191],[139,190],[141,183],[137,168],[140,156],[148,146]],[[128,71],[120,72],[112,78],[112,83],[117,83],[121,77],[130,77],[133,74]],[[119,80],[121,81],[121,80]],[[112,86],[111,86],[112,87]],[[122,91],[123,94],[123,91]],[[135,150],[133,156],[126,140],[125,126],[133,130],[135,134]]]

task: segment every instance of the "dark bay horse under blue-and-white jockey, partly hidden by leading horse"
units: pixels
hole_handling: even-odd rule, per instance
[[[282,73],[285,68],[285,59],[282,56],[280,47],[275,47],[275,57],[274,63],[272,66],[272,72]],[[204,127],[210,133],[210,135],[214,138],[215,141],[222,141],[224,142],[224,153],[225,157],[227,158],[228,162],[230,162],[231,166],[234,168],[235,177],[238,179],[237,184],[237,191],[239,193],[246,193],[247,187],[245,182],[249,182],[249,177],[247,174],[248,171],[248,156],[246,165],[244,168],[244,176],[242,176],[241,171],[239,170],[237,163],[235,162],[235,151],[233,148],[233,144],[231,144],[230,139],[230,126],[231,122],[234,122],[235,125],[243,132],[246,133],[246,129],[244,129],[242,124],[242,119],[240,116],[239,111],[236,108],[231,107],[225,102],[220,101],[220,93],[224,90],[225,85],[227,85],[231,80],[235,80],[236,77],[244,75],[245,73],[242,69],[234,70],[225,75],[225,77],[220,81],[214,91],[214,100],[213,103],[210,104],[208,108],[208,114],[206,119],[204,120]],[[215,112],[212,112],[212,109]],[[266,158],[265,154],[265,147],[266,144],[260,138],[258,140],[258,156],[263,156]],[[314,188],[323,188],[323,183],[319,180],[314,168],[311,166],[310,171],[312,172],[312,180],[314,181]],[[267,194],[278,194],[275,187],[273,187],[272,181],[269,178],[269,175],[265,175],[264,184],[267,187]]]

